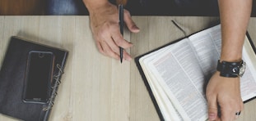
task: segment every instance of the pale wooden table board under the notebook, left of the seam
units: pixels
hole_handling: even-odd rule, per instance
[[[128,62],[102,56],[95,47],[87,16],[1,16],[0,45],[12,35],[69,51],[65,74],[49,120],[129,118]],[[125,38],[129,39],[129,34]],[[1,51],[1,56],[5,51]],[[2,58],[1,58],[2,61]],[[0,120],[7,120],[1,116]]]

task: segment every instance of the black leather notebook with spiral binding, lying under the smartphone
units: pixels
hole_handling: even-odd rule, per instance
[[[49,96],[47,96],[47,101],[43,103],[24,101],[30,52],[48,52],[53,55],[54,61],[52,61],[52,71],[50,71],[52,77],[49,78]],[[66,50],[57,47],[49,47],[12,37],[0,71],[0,113],[26,121],[47,121],[58,92],[67,54]],[[34,69],[31,71],[43,72],[44,70]],[[37,76],[34,75],[34,78]]]

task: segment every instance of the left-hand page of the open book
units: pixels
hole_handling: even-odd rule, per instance
[[[157,78],[183,119],[207,119],[203,74],[188,41],[181,40],[164,52],[158,52],[148,62],[147,68]]]

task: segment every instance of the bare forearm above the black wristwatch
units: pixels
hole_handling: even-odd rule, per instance
[[[252,0],[219,0],[221,61],[240,61]]]

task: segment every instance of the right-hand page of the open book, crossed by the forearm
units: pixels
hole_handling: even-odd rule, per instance
[[[221,25],[206,29],[189,37],[193,49],[198,54],[198,61],[206,78],[211,78],[216,71],[217,61],[221,56]],[[250,52],[250,54],[249,54]],[[244,76],[240,78],[240,90],[243,101],[256,96],[255,53],[244,40],[243,60],[247,63]],[[207,81],[207,80],[206,80]]]

